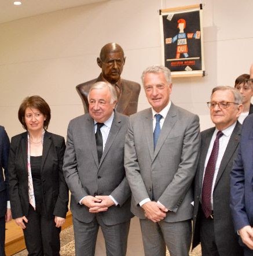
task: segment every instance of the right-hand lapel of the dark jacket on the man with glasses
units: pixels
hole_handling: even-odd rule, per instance
[[[236,127],[234,127],[232,135],[230,136],[228,146],[226,147],[226,150],[222,157],[221,165],[219,165],[219,171],[217,174],[217,178],[215,180],[214,188],[217,185],[217,183],[219,182],[221,175],[225,171],[226,166],[228,165],[231,157],[234,154],[234,151],[237,149],[237,146],[239,145],[240,134],[241,134],[241,131],[240,131],[239,123],[237,122]]]

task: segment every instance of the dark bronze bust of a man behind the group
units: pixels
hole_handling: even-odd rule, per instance
[[[76,90],[83,102],[85,113],[89,110],[88,93],[91,85],[95,82],[109,82],[116,89],[118,102],[116,111],[130,116],[137,112],[138,98],[141,85],[137,82],[120,78],[123,66],[126,61],[124,51],[120,45],[109,43],[102,47],[100,57],[97,57],[97,64],[102,72],[98,78],[87,81],[76,86]]]

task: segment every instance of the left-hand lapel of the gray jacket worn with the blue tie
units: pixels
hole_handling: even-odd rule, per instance
[[[153,117],[151,108],[145,113],[144,119],[142,121],[142,130],[145,133],[146,143],[148,145],[148,150],[151,159],[153,159],[154,154],[154,140],[153,140]]]

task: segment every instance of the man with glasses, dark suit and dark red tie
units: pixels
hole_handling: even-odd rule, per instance
[[[215,127],[201,132],[195,177],[193,248],[201,243],[203,256],[240,256],[229,208],[230,171],[239,146],[243,109],[239,91],[230,86],[212,89],[207,102]]]

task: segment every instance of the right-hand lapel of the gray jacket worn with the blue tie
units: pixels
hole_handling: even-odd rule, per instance
[[[168,137],[168,134],[170,134],[176,122],[177,122],[177,110],[175,109],[174,104],[171,103],[170,110],[168,110],[168,114],[164,120],[163,127],[161,129],[159,138],[157,140],[155,152],[153,154],[153,160],[155,160],[157,154],[159,153],[161,147],[163,146],[164,141]]]

